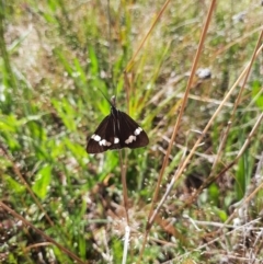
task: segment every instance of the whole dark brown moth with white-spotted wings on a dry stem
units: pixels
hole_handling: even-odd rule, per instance
[[[116,108],[115,96],[112,96],[110,104],[110,115],[88,138],[87,152],[100,153],[108,149],[146,147],[149,144],[146,131],[130,116]]]

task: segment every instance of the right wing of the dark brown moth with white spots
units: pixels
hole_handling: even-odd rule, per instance
[[[141,148],[149,144],[145,130],[126,113],[118,111],[117,137],[121,148]]]

